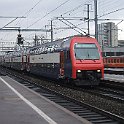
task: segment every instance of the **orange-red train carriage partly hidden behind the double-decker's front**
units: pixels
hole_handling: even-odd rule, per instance
[[[124,68],[124,56],[108,56],[103,58],[106,68]]]

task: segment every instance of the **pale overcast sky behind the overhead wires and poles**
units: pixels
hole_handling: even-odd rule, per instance
[[[50,29],[50,20],[55,17],[87,17],[86,4],[90,4],[90,18],[93,19],[94,0],[0,0],[0,17],[26,17],[16,19],[12,23],[10,22],[14,18],[0,18],[0,28],[8,24],[6,27],[20,27],[22,29],[45,29],[46,27]],[[102,16],[99,19],[111,19],[111,22],[118,24],[119,39],[124,39],[124,21],[121,22],[124,19],[123,13],[124,0],[98,0],[98,17]],[[87,32],[86,21],[71,20],[70,22]],[[102,22],[104,21],[98,21],[98,23]],[[72,29],[56,29],[68,27],[65,23],[68,24],[66,21],[53,21],[54,39],[79,33]],[[90,21],[90,33],[94,35],[93,21]],[[17,34],[18,32],[15,31],[0,31],[0,42],[16,41]],[[21,32],[21,34],[27,40],[32,39],[34,34],[44,37],[50,36],[50,33],[44,32]]]

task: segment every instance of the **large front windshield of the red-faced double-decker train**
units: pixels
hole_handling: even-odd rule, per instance
[[[95,44],[91,43],[76,43],[74,45],[75,58],[95,60],[100,59],[98,48]]]

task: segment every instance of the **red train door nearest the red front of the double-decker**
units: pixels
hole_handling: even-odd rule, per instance
[[[64,78],[64,52],[60,52],[60,78]]]

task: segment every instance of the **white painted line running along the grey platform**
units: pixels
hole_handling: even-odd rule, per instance
[[[0,80],[5,83],[18,97],[20,97],[26,104],[28,104],[32,109],[34,109],[40,116],[42,116],[49,124],[57,124],[49,116],[47,116],[43,111],[37,108],[34,104],[28,101],[24,96],[22,96],[17,90],[15,90],[11,85],[9,85],[4,79],[0,77]]]

